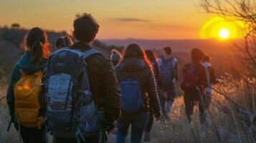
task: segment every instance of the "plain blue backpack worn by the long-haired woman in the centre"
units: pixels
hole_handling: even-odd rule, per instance
[[[143,97],[138,80],[132,77],[125,78],[120,82],[120,88],[123,111],[136,112],[143,109]]]

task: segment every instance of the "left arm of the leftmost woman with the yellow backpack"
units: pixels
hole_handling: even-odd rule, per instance
[[[6,102],[9,107],[9,114],[11,116],[11,122],[14,122],[14,86],[16,82],[19,81],[21,73],[19,71],[19,66],[16,64],[11,72],[11,80],[6,94]]]

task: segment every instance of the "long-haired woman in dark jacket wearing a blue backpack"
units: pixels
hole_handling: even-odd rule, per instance
[[[115,66],[120,82],[122,114],[118,119],[116,143],[124,143],[131,125],[131,142],[141,142],[148,122],[148,100],[150,99],[156,120],[161,117],[158,87],[153,67],[145,51],[138,44],[129,44],[124,51],[123,60]]]

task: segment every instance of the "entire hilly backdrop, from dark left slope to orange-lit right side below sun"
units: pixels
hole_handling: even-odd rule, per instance
[[[27,34],[27,29],[0,28],[0,69],[7,74],[24,53],[22,41]],[[49,41],[54,50],[54,42],[60,36],[67,35],[66,32],[47,31]],[[232,55],[227,47],[232,46],[232,41],[220,42],[214,40],[148,40],[148,39],[100,39],[93,42],[93,47],[109,56],[111,49],[123,51],[124,47],[131,43],[137,43],[145,49],[153,49],[158,56],[161,56],[161,47],[171,46],[174,56],[179,60],[180,68],[190,61],[189,51],[193,48],[200,48],[213,58],[213,64],[217,67],[218,77],[225,72],[240,73],[241,64],[237,57]],[[227,60],[228,59],[228,60]],[[234,66],[235,65],[235,66]]]

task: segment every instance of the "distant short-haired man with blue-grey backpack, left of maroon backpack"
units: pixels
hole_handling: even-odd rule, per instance
[[[163,57],[158,59],[158,64],[160,66],[163,90],[166,92],[166,100],[163,100],[163,114],[167,119],[169,119],[168,113],[174,102],[175,98],[175,84],[178,81],[178,60],[171,56],[172,49],[169,46],[163,47]]]

